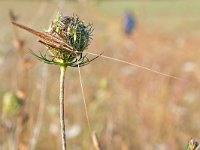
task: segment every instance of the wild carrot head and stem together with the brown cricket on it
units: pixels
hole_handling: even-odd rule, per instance
[[[52,21],[47,32],[38,32],[26,26],[13,22],[14,25],[40,37],[38,42],[46,46],[47,52],[32,54],[47,64],[60,66],[60,124],[62,149],[67,149],[64,119],[64,80],[65,71],[69,67],[81,67],[96,59],[89,59],[83,51],[90,45],[93,27],[85,25],[78,16],[62,16],[58,14]]]

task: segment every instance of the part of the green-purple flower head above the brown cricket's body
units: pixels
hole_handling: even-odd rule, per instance
[[[90,44],[93,27],[91,24],[85,24],[78,16],[63,16],[58,13],[48,31],[62,38],[75,50],[83,52]]]

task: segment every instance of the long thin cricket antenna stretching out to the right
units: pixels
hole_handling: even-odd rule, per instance
[[[131,65],[131,66],[134,66],[134,67],[137,67],[137,68],[141,68],[141,69],[144,69],[144,70],[156,73],[156,74],[160,74],[160,75],[163,75],[163,76],[166,76],[166,77],[170,77],[170,78],[174,78],[174,79],[180,80],[180,78],[178,78],[176,76],[172,76],[172,75],[165,74],[165,73],[162,73],[162,72],[159,72],[159,71],[156,71],[156,70],[152,70],[152,69],[149,69],[147,67],[140,66],[140,65],[137,65],[135,63],[131,63],[131,62],[128,62],[128,61],[125,61],[125,60],[122,60],[122,59],[113,58],[113,57],[109,57],[109,56],[105,56],[105,55],[98,55],[98,54],[91,53],[91,52],[84,52],[84,53],[90,54],[90,55],[94,55],[94,56],[99,56],[99,57],[110,59],[110,60],[114,60],[114,61],[118,61],[118,62],[121,62],[123,64],[128,64],[128,65]]]

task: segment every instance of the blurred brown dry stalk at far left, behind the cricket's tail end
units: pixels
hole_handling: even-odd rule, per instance
[[[9,16],[10,16],[10,20],[11,21],[16,21],[17,17],[14,14],[14,12],[12,10],[10,10],[9,12]],[[19,89],[17,92],[17,96],[20,98],[21,100],[21,107],[20,107],[20,111],[17,117],[17,129],[16,129],[16,141],[18,142],[18,149],[22,150],[22,149],[28,149],[28,143],[26,141],[27,137],[25,134],[25,123],[28,122],[28,114],[25,111],[25,101],[27,99],[27,89],[28,89],[28,70],[30,68],[30,62],[28,59],[25,59],[24,55],[25,55],[25,49],[24,49],[24,40],[20,39],[20,36],[17,32],[17,29],[15,27],[13,27],[13,32],[14,32],[14,47],[18,52],[19,55],[19,62],[20,62],[20,85],[19,85]]]

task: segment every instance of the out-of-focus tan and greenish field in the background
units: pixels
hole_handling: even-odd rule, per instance
[[[2,113],[4,94],[18,91],[25,80],[19,52],[13,46],[9,9],[19,16],[18,22],[40,31],[48,28],[57,10],[77,14],[95,27],[88,51],[181,78],[104,58],[81,68],[91,127],[103,149],[179,150],[191,137],[200,138],[200,1],[0,1],[0,149],[11,149],[17,143],[17,116]],[[137,18],[131,40],[121,27],[127,9]],[[30,49],[45,49],[37,38],[22,30],[18,33],[25,40],[25,57],[31,63],[26,76],[24,143],[30,143],[40,106],[45,103],[36,149],[60,149],[59,68],[44,65],[29,53]],[[77,68],[67,69],[65,84],[68,147],[93,149]]]

